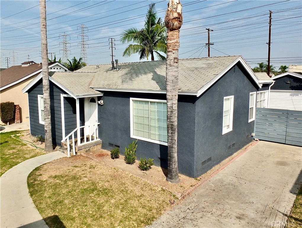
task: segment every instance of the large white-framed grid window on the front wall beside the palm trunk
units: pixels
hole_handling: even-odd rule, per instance
[[[131,137],[167,145],[167,103],[165,100],[130,98]]]

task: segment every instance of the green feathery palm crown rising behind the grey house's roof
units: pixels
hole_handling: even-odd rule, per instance
[[[151,61],[154,61],[154,52],[159,60],[166,59],[159,52],[167,51],[167,28],[161,18],[157,18],[155,3],[149,5],[145,19],[145,27],[142,29],[130,28],[125,30],[120,38],[120,42],[130,44],[123,53],[123,56],[129,57],[132,54],[139,53],[140,60],[151,55]]]

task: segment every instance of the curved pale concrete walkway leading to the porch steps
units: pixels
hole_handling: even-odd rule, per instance
[[[21,162],[1,176],[1,227],[48,227],[29,195],[27,176],[34,168],[65,156],[58,151],[44,154]]]

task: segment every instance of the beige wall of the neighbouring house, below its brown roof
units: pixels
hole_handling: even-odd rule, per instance
[[[12,85],[0,91],[0,102],[11,101],[14,102],[14,104],[19,104],[21,108],[21,122],[29,122],[27,93],[23,93],[22,89],[27,86],[37,75],[38,74],[33,75],[32,77],[19,82],[16,85]],[[0,123],[3,124],[1,120]]]

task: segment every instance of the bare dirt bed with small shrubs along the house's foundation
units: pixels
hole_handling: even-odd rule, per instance
[[[188,176],[180,174],[179,178],[181,182],[178,184],[171,184],[166,181],[166,175],[167,175],[166,169],[162,169],[160,167],[153,165],[152,169],[148,171],[141,171],[138,168],[138,161],[136,161],[133,165],[128,165],[125,163],[124,156],[122,155],[120,155],[119,159],[111,159],[110,151],[108,150],[101,149],[100,151],[97,152],[82,154],[82,156],[86,156],[94,160],[95,162],[98,162],[101,165],[114,167],[122,171],[128,172],[136,177],[148,181],[149,183],[152,183],[153,185],[157,185],[163,189],[169,190],[180,198],[185,194],[188,194],[190,189],[194,188],[195,185],[198,185],[198,183],[203,182],[204,180],[209,178],[211,175],[213,175],[215,172],[221,169],[221,167],[223,167],[228,162],[230,162],[233,158],[235,158],[240,153],[242,153],[243,150],[246,149],[250,144],[248,144],[243,149],[239,150],[237,153],[233,154],[229,158],[225,159],[220,164],[214,166],[212,169],[210,169],[208,172],[204,173],[198,178],[190,178]]]

